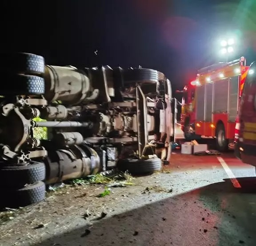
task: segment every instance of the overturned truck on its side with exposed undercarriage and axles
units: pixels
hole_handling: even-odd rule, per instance
[[[152,173],[168,163],[174,119],[164,74],[50,66],[28,53],[0,62],[1,206],[39,202],[46,184],[113,167]],[[47,127],[48,138],[37,139],[36,127]]]

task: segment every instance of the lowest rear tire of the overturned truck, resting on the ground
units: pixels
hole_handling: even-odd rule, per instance
[[[21,189],[0,188],[0,208],[24,207],[45,198],[44,182],[36,182]]]

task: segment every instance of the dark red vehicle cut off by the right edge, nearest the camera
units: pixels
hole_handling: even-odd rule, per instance
[[[241,159],[244,163],[256,166],[256,62],[248,70],[238,113]]]

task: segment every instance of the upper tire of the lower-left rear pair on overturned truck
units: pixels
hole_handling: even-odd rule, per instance
[[[22,187],[45,179],[45,165],[30,161],[26,166],[4,166],[0,163],[0,186]]]

